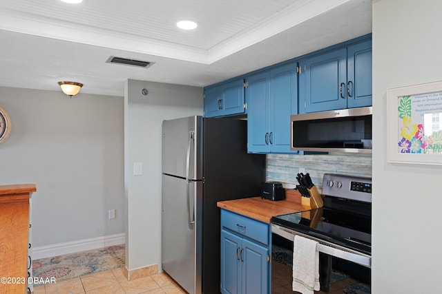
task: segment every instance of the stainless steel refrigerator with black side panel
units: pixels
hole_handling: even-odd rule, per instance
[[[162,269],[191,294],[220,293],[220,200],[256,197],[265,156],[247,121],[191,116],[162,125]]]

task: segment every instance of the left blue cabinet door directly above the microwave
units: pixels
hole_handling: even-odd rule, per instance
[[[347,107],[347,49],[300,61],[300,113]]]

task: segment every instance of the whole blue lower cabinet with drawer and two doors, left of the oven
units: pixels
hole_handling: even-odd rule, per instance
[[[221,293],[270,293],[269,254],[269,224],[221,210]]]

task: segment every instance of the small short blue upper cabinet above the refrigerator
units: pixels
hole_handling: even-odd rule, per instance
[[[244,79],[204,88],[204,116],[218,117],[244,114]]]

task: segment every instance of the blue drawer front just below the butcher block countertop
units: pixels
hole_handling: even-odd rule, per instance
[[[269,225],[221,209],[221,226],[262,244],[269,244]]]

